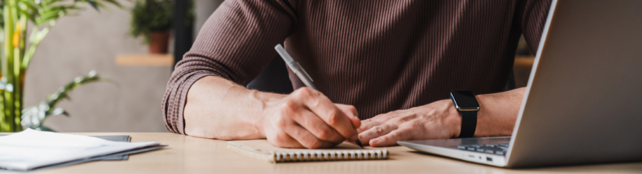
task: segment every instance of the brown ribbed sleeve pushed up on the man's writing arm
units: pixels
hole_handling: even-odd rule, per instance
[[[276,56],[274,45],[295,31],[288,0],[228,0],[214,11],[182,61],[175,66],[162,101],[165,126],[185,134],[183,109],[194,82],[218,76],[245,86]]]

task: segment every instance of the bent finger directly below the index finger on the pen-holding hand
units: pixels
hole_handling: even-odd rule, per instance
[[[321,118],[316,116],[311,111],[306,109],[301,109],[299,113],[296,113],[297,116],[293,116],[293,119],[301,125],[304,129],[311,132],[314,136],[322,141],[329,141],[332,143],[341,143],[345,141],[345,138],[341,136],[336,130],[332,127],[329,127],[325,124]]]

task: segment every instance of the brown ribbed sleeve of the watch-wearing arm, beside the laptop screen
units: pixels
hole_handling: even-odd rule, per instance
[[[536,54],[551,8],[551,0],[527,0],[525,5],[522,15],[522,31],[531,52]]]

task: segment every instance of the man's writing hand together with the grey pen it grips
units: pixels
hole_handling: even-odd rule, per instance
[[[343,140],[352,141],[363,148],[361,141],[358,139],[357,132],[357,127],[361,125],[361,121],[357,118],[357,110],[354,109],[354,106],[334,104],[331,102],[317,90],[312,83],[313,80],[310,75],[303,70],[301,65],[299,65],[288,52],[285,52],[285,49],[283,49],[280,44],[276,45],[274,49],[281,55],[285,63],[288,64],[290,70],[295,72],[299,79],[308,87],[299,88],[288,95],[288,97],[291,97],[295,102],[285,103],[285,107],[289,109],[281,109],[282,111],[276,114],[284,118],[292,118],[298,124],[287,125],[279,123],[274,126],[289,129],[290,131],[286,131],[286,133],[305,148],[334,146]],[[288,120],[281,120],[279,122],[288,122]],[[321,141],[315,142],[314,138]],[[281,137],[281,139],[283,138]],[[270,141],[269,136],[268,141]],[[311,141],[313,141],[313,143],[309,143]],[[274,142],[270,141],[270,143],[279,147],[283,147],[283,145],[279,144],[282,142],[283,141],[277,142],[276,140],[274,140]]]

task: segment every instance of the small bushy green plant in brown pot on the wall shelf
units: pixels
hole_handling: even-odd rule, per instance
[[[172,28],[172,0],[135,0],[130,34],[143,37],[150,54],[167,53]]]

